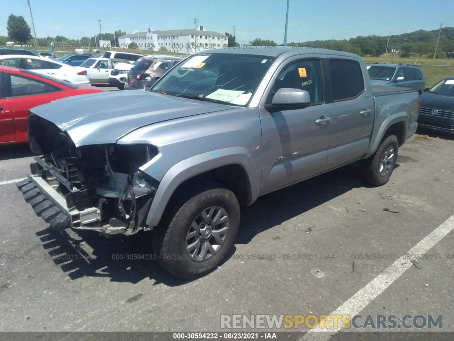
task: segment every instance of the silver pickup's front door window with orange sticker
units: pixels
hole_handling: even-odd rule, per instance
[[[306,90],[311,95],[311,103],[323,102],[320,62],[305,59],[287,65],[277,76],[270,95],[282,88]]]

